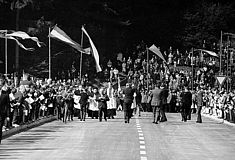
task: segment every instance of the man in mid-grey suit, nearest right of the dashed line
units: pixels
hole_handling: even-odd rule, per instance
[[[155,85],[155,88],[151,91],[151,106],[153,108],[153,123],[158,124],[160,121],[160,105],[161,105],[161,98],[160,93],[162,90],[160,89],[160,85]]]

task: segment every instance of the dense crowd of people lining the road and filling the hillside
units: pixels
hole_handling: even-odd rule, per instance
[[[193,64],[197,57],[182,57],[177,50],[169,50],[168,61],[156,55],[146,59],[145,50],[138,47],[134,56],[117,60],[111,66],[107,85],[94,87],[78,79],[51,81],[27,79],[18,87],[0,75],[0,124],[1,131],[30,123],[46,116],[58,116],[64,123],[77,117],[98,119],[114,118],[116,111],[124,111],[124,122],[129,123],[133,114],[153,112],[153,123],[167,121],[165,112],[179,112],[182,121],[191,120],[197,113],[197,123],[202,123],[201,112],[235,122],[234,94],[222,87],[215,88],[213,69],[208,71],[202,61],[195,62],[197,70],[177,69],[179,65]],[[186,58],[185,61],[182,59]],[[173,68],[169,66],[173,65]],[[126,74],[125,87],[119,74]],[[114,83],[118,83],[118,87]],[[1,135],[0,135],[1,136]],[[1,137],[0,137],[1,138]]]

